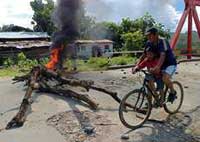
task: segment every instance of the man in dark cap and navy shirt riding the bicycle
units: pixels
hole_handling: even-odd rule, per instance
[[[153,74],[158,74],[159,72],[162,73],[162,80],[170,89],[170,94],[167,101],[173,102],[176,98],[176,91],[174,90],[171,77],[176,71],[177,62],[172,49],[170,48],[170,44],[166,39],[159,37],[158,30],[156,28],[148,29],[145,35],[147,36],[148,41],[146,43],[143,55],[140,57],[139,62],[133,71],[136,70],[138,65],[146,58],[146,50],[149,45],[151,45],[152,52],[158,58],[158,63],[150,70],[150,72]],[[161,98],[161,100],[164,100],[163,95]]]

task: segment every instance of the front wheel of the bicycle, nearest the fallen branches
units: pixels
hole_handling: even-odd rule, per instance
[[[122,99],[119,118],[124,126],[131,129],[141,127],[151,114],[152,104],[144,91],[136,89]]]

